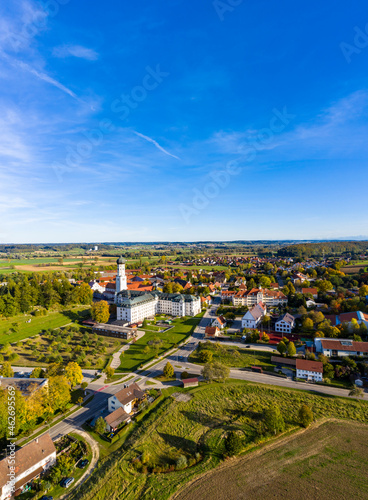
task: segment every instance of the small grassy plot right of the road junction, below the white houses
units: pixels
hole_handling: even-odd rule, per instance
[[[208,342],[206,349],[213,353],[212,361],[220,362],[232,368],[249,368],[251,366],[262,366],[266,370],[273,371],[271,363],[273,354],[268,351],[256,351],[252,349],[239,349],[237,347],[221,345],[219,342]],[[199,350],[193,351],[189,357],[191,363],[203,364],[199,359]]]

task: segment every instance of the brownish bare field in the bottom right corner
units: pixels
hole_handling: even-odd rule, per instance
[[[176,500],[366,500],[368,426],[326,422],[224,463]]]

